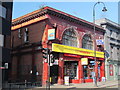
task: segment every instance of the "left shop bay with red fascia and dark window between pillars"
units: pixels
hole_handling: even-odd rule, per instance
[[[63,77],[69,76],[70,83],[79,83],[80,56],[73,54],[63,54]]]

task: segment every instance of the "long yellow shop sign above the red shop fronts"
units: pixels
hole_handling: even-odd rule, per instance
[[[52,51],[76,54],[76,55],[83,55],[83,56],[94,56],[93,50],[76,48],[76,47],[71,47],[71,46],[66,46],[66,45],[61,45],[61,44],[56,44],[56,43],[52,43]],[[96,57],[104,58],[104,52],[96,51]]]

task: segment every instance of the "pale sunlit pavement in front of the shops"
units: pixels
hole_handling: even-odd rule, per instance
[[[118,80],[113,80],[113,81],[105,81],[105,82],[97,82],[97,87],[94,85],[94,83],[80,83],[80,84],[73,84],[70,83],[69,85],[58,85],[58,84],[54,84],[50,86],[50,89],[64,89],[64,90],[76,90],[76,89],[87,89],[87,90],[91,90],[91,89],[99,89],[99,88],[112,88],[111,90],[115,89],[115,90],[120,90],[120,81]],[[46,89],[46,87],[36,87],[33,89],[29,89],[29,90],[49,90]],[[109,90],[108,89],[108,90]]]

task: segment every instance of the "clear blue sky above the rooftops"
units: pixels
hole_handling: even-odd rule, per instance
[[[14,0],[15,1],[15,0]],[[96,0],[97,1],[97,0]],[[96,2],[14,2],[12,19],[23,16],[42,6],[49,6],[81,19],[93,22],[93,6]],[[102,12],[103,4],[95,7],[95,19],[108,18],[118,23],[118,2],[104,2],[107,12]]]

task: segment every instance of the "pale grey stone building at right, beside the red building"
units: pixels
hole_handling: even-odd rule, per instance
[[[96,20],[104,27],[105,69],[107,80],[120,79],[120,25],[109,19]]]

